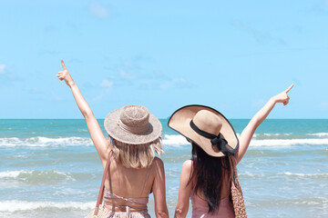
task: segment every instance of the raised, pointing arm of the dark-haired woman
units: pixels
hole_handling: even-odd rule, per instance
[[[289,86],[285,91],[281,94],[277,94],[273,96],[262,108],[256,113],[252,118],[250,123],[246,126],[246,128],[242,131],[240,137],[240,147],[235,157],[237,159],[237,163],[240,163],[241,158],[246,153],[248,146],[251,143],[251,137],[255,133],[256,128],[265,120],[265,118],[270,114],[274,105],[276,103],[283,103],[283,105],[287,105],[289,103],[288,92],[292,89],[292,86]]]

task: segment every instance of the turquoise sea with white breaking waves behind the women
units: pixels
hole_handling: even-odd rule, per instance
[[[173,217],[191,147],[167,119],[160,121]],[[248,122],[231,119],[238,135]],[[0,217],[85,217],[96,205],[102,173],[83,119],[0,120]],[[265,120],[238,173],[251,218],[328,217],[328,120]],[[152,194],[149,213],[155,217]]]

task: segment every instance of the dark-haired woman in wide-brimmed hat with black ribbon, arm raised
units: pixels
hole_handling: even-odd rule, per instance
[[[228,119],[208,106],[187,105],[170,116],[169,127],[192,145],[191,159],[182,165],[175,217],[186,217],[190,200],[192,217],[247,217],[235,166],[274,105],[288,104],[292,86],[273,96],[239,139]]]

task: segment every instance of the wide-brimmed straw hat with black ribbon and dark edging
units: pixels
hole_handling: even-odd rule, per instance
[[[233,155],[239,141],[228,119],[213,108],[187,105],[169,117],[169,127],[211,156]]]

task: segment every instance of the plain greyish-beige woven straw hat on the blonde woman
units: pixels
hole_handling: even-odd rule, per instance
[[[104,122],[110,137],[125,144],[149,144],[159,139],[159,119],[141,105],[127,105],[110,112]]]

